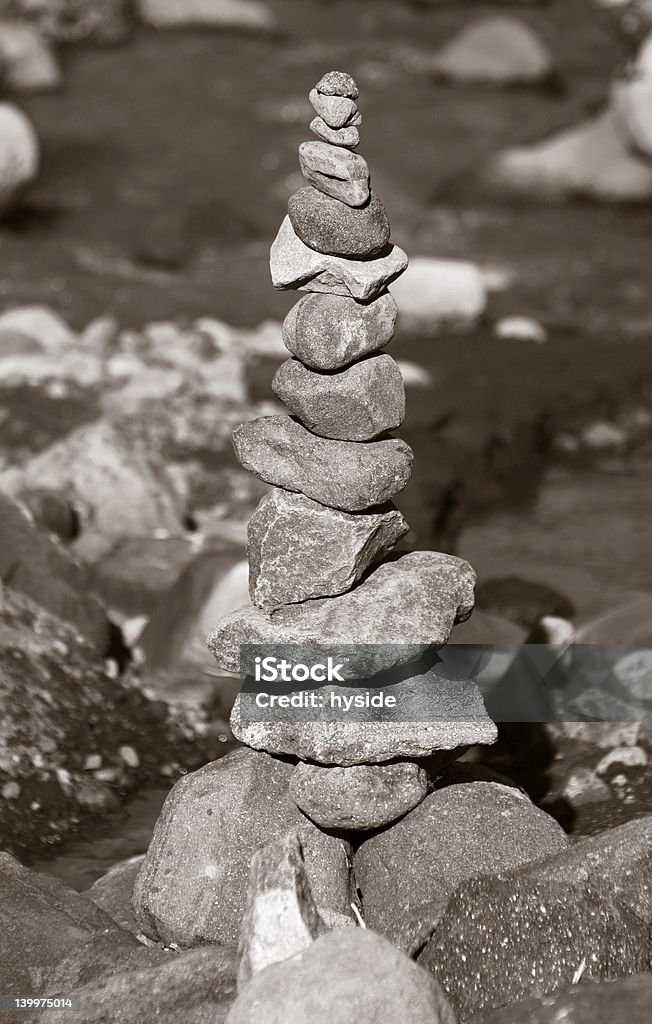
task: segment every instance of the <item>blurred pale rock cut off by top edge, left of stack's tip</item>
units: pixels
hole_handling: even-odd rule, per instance
[[[156,29],[276,29],[273,12],[259,0],[137,0],[136,7],[142,20]]]

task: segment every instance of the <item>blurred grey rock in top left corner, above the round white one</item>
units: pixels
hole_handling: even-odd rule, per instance
[[[20,22],[0,22],[0,77],[12,92],[50,92],[62,82],[48,41]]]

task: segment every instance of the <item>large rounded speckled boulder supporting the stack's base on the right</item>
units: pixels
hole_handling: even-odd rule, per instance
[[[445,778],[445,771],[444,771]],[[494,782],[437,788],[355,855],[364,920],[392,941],[402,922],[459,885],[564,850],[568,837],[519,790]]]

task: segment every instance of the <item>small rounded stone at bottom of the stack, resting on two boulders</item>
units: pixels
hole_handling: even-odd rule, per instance
[[[412,761],[322,768],[298,764],[290,780],[297,806],[322,828],[380,828],[428,793],[428,772]]]

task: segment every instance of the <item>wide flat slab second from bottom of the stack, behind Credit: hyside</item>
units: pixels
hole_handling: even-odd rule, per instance
[[[341,601],[342,598],[331,600]],[[302,647],[302,660],[305,649]],[[338,644],[332,650],[337,652],[338,662],[343,662],[349,648]],[[378,667],[379,651],[383,649],[372,650],[373,653],[366,654],[367,671]],[[397,656],[405,656],[400,654],[402,650],[402,647],[387,646],[384,653],[396,660]],[[353,649],[353,657],[361,662],[363,656],[359,648]],[[348,660],[346,664],[348,666]],[[341,767],[433,756],[439,765],[442,752],[452,752],[454,760],[470,744],[494,742],[496,728],[486,714],[475,683],[458,676],[441,663],[430,669],[425,668],[425,662],[415,663],[415,675],[409,672],[405,673],[406,678],[399,675],[398,682],[382,688],[384,694],[396,699],[396,711],[391,713],[375,708],[346,712],[344,705],[334,711],[334,696],[350,699],[359,697],[364,691],[359,685],[338,683],[336,687],[329,683],[319,686],[317,691],[323,700],[321,708],[311,707],[303,714],[291,709],[282,717],[274,713],[274,721],[259,720],[261,712],[254,710],[258,692],[248,684],[233,705],[231,730],[237,739],[255,750]],[[371,693],[380,692],[374,680],[370,679],[368,685]]]

